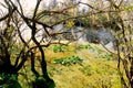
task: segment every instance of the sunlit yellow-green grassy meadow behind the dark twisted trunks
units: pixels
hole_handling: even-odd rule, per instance
[[[122,88],[116,59],[95,44],[53,44],[44,48],[48,73],[55,88]],[[29,63],[20,70],[19,82],[30,88],[34,75]],[[41,72],[39,55],[35,68]]]

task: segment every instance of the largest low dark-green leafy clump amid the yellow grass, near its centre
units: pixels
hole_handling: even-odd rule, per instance
[[[71,56],[71,57],[62,57],[62,58],[54,59],[53,63],[61,64],[64,66],[70,66],[73,64],[82,64],[82,62],[83,59],[81,59],[79,56]]]

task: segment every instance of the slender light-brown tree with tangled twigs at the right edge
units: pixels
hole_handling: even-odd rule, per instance
[[[124,88],[133,88],[133,28],[131,26],[133,20],[130,18],[130,14],[132,13],[131,10],[125,9],[127,7],[131,8],[132,6],[124,6],[123,3],[123,0],[121,0],[119,4],[114,3],[113,0],[110,0],[110,4],[112,6],[111,10],[116,11],[113,14],[111,13],[111,18],[115,19],[115,23],[120,26],[120,30],[117,32],[115,31],[113,34],[115,37],[114,44],[116,45],[117,51],[117,70],[120,73],[121,82]],[[124,12],[126,12],[125,15]],[[115,26],[113,28],[116,30]],[[126,78],[124,78],[124,75]]]

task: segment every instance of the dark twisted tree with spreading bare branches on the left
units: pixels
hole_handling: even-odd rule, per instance
[[[1,7],[7,10],[0,18],[0,22],[3,23],[3,28],[0,29],[0,74],[4,77],[1,80],[1,85],[12,81],[12,75],[18,79],[19,70],[22,69],[24,64],[30,58],[31,61],[31,72],[35,76],[35,80],[32,82],[34,88],[52,88],[54,87],[54,81],[49,77],[47,72],[47,62],[44,56],[43,47],[48,47],[52,44],[52,38],[57,35],[70,32],[61,33],[50,33],[53,31],[53,26],[60,24],[66,20],[59,21],[54,20],[55,16],[66,18],[64,11],[73,8],[65,7],[63,10],[59,11],[40,11],[39,7],[41,0],[37,0],[35,7],[33,8],[32,14],[25,15],[24,8],[22,7],[20,0],[12,2],[12,0],[4,0]],[[55,14],[55,16],[53,16]],[[58,15],[59,14],[59,15]],[[49,16],[49,19],[47,19]],[[71,15],[70,15],[71,16]],[[29,29],[29,40],[24,38],[22,33]],[[38,40],[38,34],[40,31],[44,32],[44,36]],[[49,40],[44,42],[44,38]],[[60,43],[60,41],[58,42]],[[35,54],[40,53],[40,66],[41,73],[34,67]],[[14,62],[13,62],[14,61]],[[12,64],[13,63],[13,64]],[[42,74],[42,75],[41,75]],[[40,79],[41,77],[41,79]],[[40,82],[43,81],[43,82]],[[17,87],[18,88],[18,87]]]

